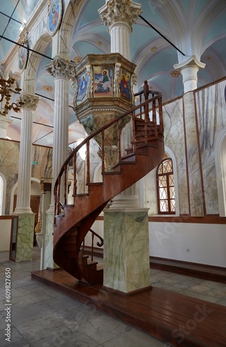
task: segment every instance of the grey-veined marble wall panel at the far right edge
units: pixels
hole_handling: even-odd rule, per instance
[[[222,81],[195,93],[207,214],[219,212],[214,149],[226,127],[225,87],[226,81]]]

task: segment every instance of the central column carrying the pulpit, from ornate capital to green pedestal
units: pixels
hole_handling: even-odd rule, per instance
[[[132,24],[141,13],[141,4],[127,0],[110,0],[98,10],[109,26],[111,53],[130,60]],[[122,149],[128,147],[123,128]],[[115,196],[104,213],[104,279],[103,285],[123,293],[150,287],[148,209],[141,208],[137,186],[132,185]]]

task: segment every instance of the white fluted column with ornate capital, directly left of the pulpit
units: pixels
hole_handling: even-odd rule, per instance
[[[62,164],[68,155],[69,130],[69,81],[75,76],[76,64],[55,56],[46,70],[55,81],[54,118],[53,118],[53,167],[51,204],[46,211],[46,232],[44,237],[43,268],[55,268],[53,262],[53,217],[54,217],[54,185]],[[62,198],[62,197],[61,197]],[[63,200],[61,200],[64,203]]]

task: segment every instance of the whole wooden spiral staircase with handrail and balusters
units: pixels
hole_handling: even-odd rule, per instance
[[[157,167],[164,155],[162,95],[150,91],[145,82],[144,90],[135,96],[139,99],[139,105],[89,135],[73,150],[62,165],[54,187],[54,262],[78,280],[91,285],[103,282],[103,269],[98,269],[97,262],[90,261],[82,252],[82,242],[87,232],[107,203]],[[131,141],[127,149],[122,149],[121,146],[121,124],[124,117],[130,117],[132,123]],[[117,129],[118,135],[114,146],[116,145],[118,151],[117,160],[111,167],[106,167],[105,132],[109,131],[110,127]],[[89,144],[100,134],[103,180],[94,182]],[[73,187],[71,187],[73,188],[73,204],[69,204],[69,162],[73,161],[73,177],[76,178],[78,153],[82,146],[86,148],[84,162],[86,178],[82,189],[77,187],[77,180],[74,179]]]

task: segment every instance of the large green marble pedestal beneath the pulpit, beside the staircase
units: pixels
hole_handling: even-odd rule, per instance
[[[105,287],[130,293],[150,287],[148,209],[104,215]]]

